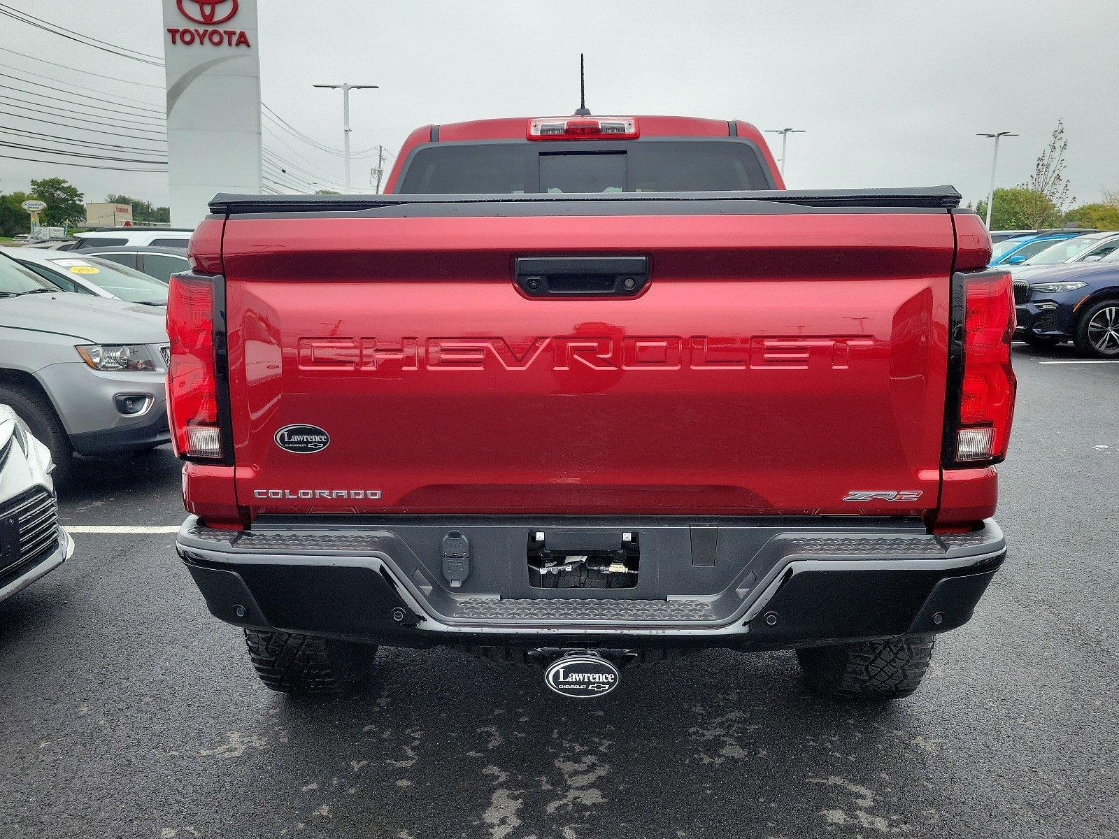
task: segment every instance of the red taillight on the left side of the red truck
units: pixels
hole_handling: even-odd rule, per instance
[[[192,274],[171,277],[167,334],[171,342],[167,402],[175,450],[180,456],[220,458],[214,282],[209,277]]]

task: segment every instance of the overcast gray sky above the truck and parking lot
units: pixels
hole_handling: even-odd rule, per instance
[[[7,1],[162,54],[156,0]],[[1078,202],[1119,188],[1116,0],[1074,7],[1055,0],[260,0],[258,8],[263,101],[336,148],[340,94],[316,91],[313,82],[379,84],[352,94],[354,148],[379,142],[395,151],[411,129],[429,122],[572,112],[582,50],[594,113],[806,129],[790,140],[791,188],[952,183],[975,201],[986,194],[991,151],[976,132],[1021,134],[1005,140],[999,155],[998,183],[1013,186],[1029,176],[1059,119]],[[70,81],[73,91],[162,106],[161,89],[115,81],[162,85],[161,69],[0,20],[0,47],[114,78],[83,81],[10,53],[0,53],[0,64]],[[31,128],[0,115],[0,126],[13,124]],[[321,170],[323,181],[341,180],[339,158],[283,140],[297,152],[270,134],[265,148]],[[355,185],[367,180],[370,166],[369,159],[356,164]],[[0,191],[56,175],[87,200],[113,191],[167,201],[163,175],[4,159]]]

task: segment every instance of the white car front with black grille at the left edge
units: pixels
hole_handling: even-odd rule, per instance
[[[0,405],[0,601],[74,553],[58,525],[50,452],[16,412]]]

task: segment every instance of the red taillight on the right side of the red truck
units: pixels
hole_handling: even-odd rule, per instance
[[[1017,381],[1010,368],[1014,289],[1010,275],[966,276],[962,378],[953,454],[961,465],[997,463],[1006,456]]]

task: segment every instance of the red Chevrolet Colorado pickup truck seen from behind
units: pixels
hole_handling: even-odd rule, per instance
[[[178,552],[269,687],[448,644],[916,688],[1006,553],[1012,285],[956,190],[577,116],[422,128],[388,191],[217,196],[171,282]]]

